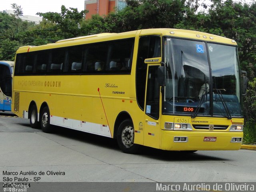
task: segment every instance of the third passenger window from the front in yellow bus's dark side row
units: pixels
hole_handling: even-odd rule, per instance
[[[77,73],[82,71],[83,52],[84,46],[73,46],[68,48],[68,72]]]

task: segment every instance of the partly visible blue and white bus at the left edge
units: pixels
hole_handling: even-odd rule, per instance
[[[13,69],[13,61],[0,61],[0,111],[11,110]]]

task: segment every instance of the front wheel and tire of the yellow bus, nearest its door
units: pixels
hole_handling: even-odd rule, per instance
[[[137,154],[140,146],[134,144],[134,127],[131,120],[124,120],[117,132],[117,143],[124,153]]]

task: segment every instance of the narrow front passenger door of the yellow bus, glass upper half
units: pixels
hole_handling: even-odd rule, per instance
[[[146,84],[146,106],[144,122],[144,145],[160,148],[160,86],[157,70],[159,66],[149,65]]]

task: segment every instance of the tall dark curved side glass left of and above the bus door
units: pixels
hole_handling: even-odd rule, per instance
[[[144,110],[147,64],[146,58],[156,58],[161,56],[160,36],[142,36],[139,40],[137,66],[136,66],[136,95],[137,101]]]

